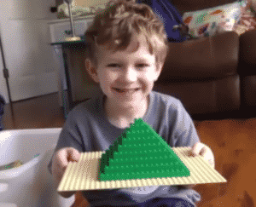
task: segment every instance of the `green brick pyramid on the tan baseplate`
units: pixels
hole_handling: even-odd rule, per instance
[[[102,153],[99,180],[117,181],[189,176],[183,164],[166,141],[142,118]]]

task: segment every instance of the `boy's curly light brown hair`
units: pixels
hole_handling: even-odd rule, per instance
[[[97,66],[97,45],[106,44],[113,52],[125,50],[135,33],[146,37],[148,50],[155,55],[157,66],[163,64],[168,51],[165,26],[148,5],[136,3],[136,0],[111,0],[106,9],[96,14],[92,25],[84,33],[90,45],[88,57]]]

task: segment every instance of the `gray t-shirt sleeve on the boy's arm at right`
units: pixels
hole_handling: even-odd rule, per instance
[[[178,103],[177,122],[175,126],[175,137],[177,141],[175,147],[193,147],[195,143],[200,141],[195,124],[182,102],[178,101]]]

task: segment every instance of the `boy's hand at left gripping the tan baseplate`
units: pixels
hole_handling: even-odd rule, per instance
[[[65,147],[55,152],[52,161],[52,175],[57,186],[59,186],[61,178],[67,169],[67,164],[71,161],[78,162],[80,157],[80,152],[73,147]],[[72,196],[73,193],[75,192],[63,192],[60,194],[64,198],[68,198]]]

